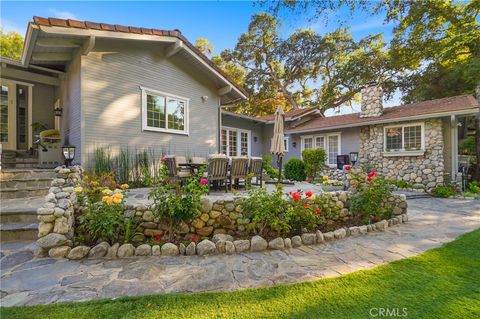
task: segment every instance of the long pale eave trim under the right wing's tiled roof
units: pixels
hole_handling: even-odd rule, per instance
[[[375,124],[396,123],[396,122],[415,121],[415,120],[427,120],[427,119],[432,119],[432,118],[448,117],[448,116],[452,116],[452,115],[454,115],[454,116],[457,116],[457,115],[473,115],[473,114],[476,114],[478,112],[480,112],[480,108],[472,108],[472,109],[461,110],[461,111],[456,111],[456,112],[442,112],[442,113],[433,113],[433,114],[422,114],[422,115],[417,115],[417,116],[408,116],[408,117],[400,117],[400,118],[394,118],[394,119],[385,119],[385,120],[377,120],[377,121],[369,121],[369,122],[361,122],[361,123],[353,123],[353,124],[337,125],[337,126],[329,126],[329,127],[309,128],[309,129],[304,129],[304,130],[286,130],[285,133],[297,134],[297,133],[308,133],[308,132],[331,131],[331,130],[349,128],[349,127],[360,127],[360,126],[375,125]]]

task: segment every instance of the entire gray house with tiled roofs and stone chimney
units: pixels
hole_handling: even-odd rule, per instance
[[[229,156],[269,153],[273,115],[249,117],[224,106],[246,92],[178,30],[34,17],[21,61],[1,58],[1,146],[20,154],[35,125],[58,129],[87,165],[100,147]],[[384,108],[382,90],[362,91],[361,112],[324,117],[306,108],[286,114],[286,160],[323,148],[326,170],[337,156],[388,178],[433,186],[455,178],[466,119],[479,112],[473,96]]]

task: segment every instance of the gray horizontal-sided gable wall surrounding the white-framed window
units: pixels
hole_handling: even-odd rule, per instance
[[[131,44],[131,45],[129,45]],[[206,156],[217,151],[219,96],[212,83],[179,57],[165,58],[152,44],[98,41],[82,57],[82,111],[88,157],[97,147],[114,151]],[[189,135],[142,131],[140,86],[189,101]],[[206,102],[202,96],[208,96]]]

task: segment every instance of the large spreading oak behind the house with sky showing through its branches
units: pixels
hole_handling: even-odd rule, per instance
[[[221,54],[246,72],[249,102],[255,104],[240,105],[242,112],[269,114],[279,104],[287,110],[310,106],[325,111],[352,103],[372,80],[382,82],[387,94],[393,92],[395,72],[381,35],[355,41],[348,29],[324,36],[300,29],[283,39],[278,24],[268,14],[254,15],[235,49]]]

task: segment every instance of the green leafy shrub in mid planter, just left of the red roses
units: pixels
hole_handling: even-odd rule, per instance
[[[286,234],[290,230],[292,209],[283,198],[283,186],[277,184],[271,194],[265,188],[255,188],[248,192],[248,198],[241,203],[246,218],[251,220],[250,231],[260,236],[272,230],[277,234]]]

